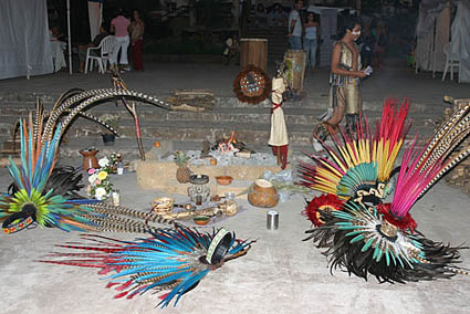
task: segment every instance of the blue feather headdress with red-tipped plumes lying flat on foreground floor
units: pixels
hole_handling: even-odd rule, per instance
[[[133,299],[147,291],[169,291],[160,296],[157,306],[167,306],[194,289],[210,271],[224,262],[247,254],[253,241],[236,239],[224,229],[200,233],[196,229],[178,228],[152,232],[152,238],[137,241],[119,241],[93,234],[83,238],[97,244],[59,245],[85,250],[84,253],[52,253],[49,258],[65,260],[41,262],[101,269],[100,274],[111,274],[106,287],[116,286],[115,299]],[[105,241],[102,241],[104,239]],[[92,251],[92,252],[90,252]],[[74,259],[79,258],[79,259]]]

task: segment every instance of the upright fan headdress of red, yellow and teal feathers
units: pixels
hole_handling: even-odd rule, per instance
[[[409,129],[408,109],[406,100],[397,108],[395,100],[388,98],[374,137],[367,118],[358,123],[356,137],[341,128],[343,140],[332,135],[338,153],[322,143],[332,158],[310,155],[316,165],[300,164],[300,184],[348,200],[365,186],[386,182]]]

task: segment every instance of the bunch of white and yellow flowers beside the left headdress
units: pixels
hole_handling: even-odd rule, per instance
[[[88,169],[88,195],[98,200],[105,200],[113,190],[109,175],[113,172],[113,165],[107,157],[98,160],[100,169]]]

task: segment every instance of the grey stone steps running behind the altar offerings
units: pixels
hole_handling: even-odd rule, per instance
[[[34,108],[36,97],[40,97],[44,107],[51,108],[53,101],[59,95],[35,95],[29,93],[15,93],[0,95],[0,142],[9,139],[14,122],[19,117],[27,117]],[[258,151],[267,151],[267,145],[271,128],[270,102],[264,101],[258,105],[240,103],[236,97],[218,97],[213,111],[168,112],[148,104],[138,106],[142,126],[142,136],[146,150],[150,149],[155,140],[170,140],[186,149],[200,149],[205,139],[213,142],[221,135],[230,135],[236,130],[238,138],[249,147]],[[309,138],[316,117],[326,108],[325,100],[306,98],[300,102],[286,102],[284,114],[290,136],[291,148],[296,154],[301,149],[311,150]],[[375,121],[380,115],[377,104],[364,103],[364,112],[369,121]],[[420,138],[427,138],[432,134],[434,125],[426,121],[429,116],[426,105],[414,104],[410,116],[414,118],[410,135],[419,133]],[[138,154],[135,142],[134,121],[119,104],[102,104],[88,111],[96,116],[104,113],[119,114],[122,116],[119,134],[115,149],[125,150],[134,155]],[[410,136],[411,137],[411,136]],[[77,155],[81,148],[102,147],[101,127],[83,117],[73,122],[65,134],[61,146],[61,154]],[[109,148],[108,148],[109,149]],[[182,148],[181,148],[182,149]]]

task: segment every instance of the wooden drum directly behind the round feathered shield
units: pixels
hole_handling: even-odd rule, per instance
[[[268,40],[267,39],[241,39],[240,65],[241,69],[252,64],[268,72]]]

